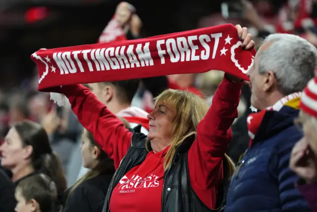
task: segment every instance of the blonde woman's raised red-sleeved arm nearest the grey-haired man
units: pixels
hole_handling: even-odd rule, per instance
[[[207,189],[222,178],[222,160],[232,139],[230,126],[238,117],[242,83],[223,79],[210,109],[197,127],[197,138],[188,152],[190,178],[200,188]]]

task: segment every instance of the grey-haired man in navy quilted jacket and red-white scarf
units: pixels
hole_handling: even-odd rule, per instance
[[[290,34],[269,35],[249,70],[251,104],[260,112],[247,119],[249,148],[237,164],[225,212],[309,212],[288,165],[303,136],[294,125],[305,85],[315,76],[317,49]]]

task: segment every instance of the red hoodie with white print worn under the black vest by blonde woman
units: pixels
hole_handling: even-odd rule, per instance
[[[209,208],[216,203],[216,187],[223,178],[222,159],[232,139],[231,124],[237,117],[242,83],[224,79],[212,105],[197,128],[197,138],[188,151],[191,186]],[[62,86],[80,123],[91,131],[117,169],[127,153],[132,133],[82,85]],[[128,171],[110,199],[111,212],[160,212],[163,184],[163,157],[166,151],[149,152],[146,160]]]

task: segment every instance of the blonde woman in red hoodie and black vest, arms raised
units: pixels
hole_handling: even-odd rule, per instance
[[[246,28],[236,26],[245,49],[254,46]],[[91,91],[65,85],[81,124],[114,160],[116,173],[104,211],[210,211],[222,205],[222,182],[234,164],[225,155],[237,117],[242,80],[226,74],[208,109],[199,96],[166,90],[148,115],[148,136],[131,133]],[[219,198],[218,198],[219,197]]]

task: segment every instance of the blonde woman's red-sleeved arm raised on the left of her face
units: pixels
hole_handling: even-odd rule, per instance
[[[78,121],[89,130],[106,154],[114,160],[118,168],[131,144],[130,132],[106,106],[100,102],[89,88],[83,85],[62,86],[63,93],[71,104]]]

